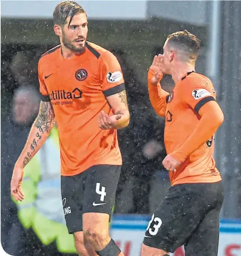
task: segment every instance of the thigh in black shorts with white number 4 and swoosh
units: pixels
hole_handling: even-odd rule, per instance
[[[105,213],[110,221],[120,171],[121,166],[106,164],[88,169],[83,213]]]

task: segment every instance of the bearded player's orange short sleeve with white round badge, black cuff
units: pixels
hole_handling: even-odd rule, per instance
[[[125,90],[123,72],[116,56],[103,53],[99,65],[102,91],[106,97]]]

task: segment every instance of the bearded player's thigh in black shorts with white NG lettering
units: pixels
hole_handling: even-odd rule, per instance
[[[61,176],[62,205],[66,226],[71,234],[83,231],[83,177],[84,173],[75,176]]]

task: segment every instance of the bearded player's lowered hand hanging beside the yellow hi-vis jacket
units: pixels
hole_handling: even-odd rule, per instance
[[[21,183],[23,181],[24,170],[23,168],[15,166],[13,169],[13,175],[11,180],[11,194],[16,201],[24,200],[24,193],[21,189]]]

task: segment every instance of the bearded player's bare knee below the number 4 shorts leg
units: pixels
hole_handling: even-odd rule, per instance
[[[84,238],[95,248],[105,247],[110,240],[109,231],[95,228],[87,228],[86,231],[84,231]]]

